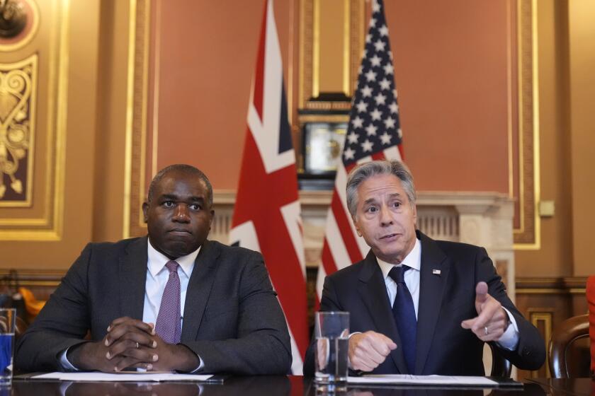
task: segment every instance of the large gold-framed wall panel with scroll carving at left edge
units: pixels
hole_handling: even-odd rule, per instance
[[[60,240],[69,1],[13,3],[26,25],[0,40],[0,240]]]

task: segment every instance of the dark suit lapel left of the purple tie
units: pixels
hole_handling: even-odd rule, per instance
[[[147,240],[145,237],[132,241],[126,254],[120,257],[120,317],[142,320],[147,283]]]

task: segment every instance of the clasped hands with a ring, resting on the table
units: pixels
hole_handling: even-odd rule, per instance
[[[113,320],[106,337],[74,347],[67,358],[82,370],[104,372],[124,368],[193,371],[199,364],[198,356],[188,347],[164,342],[152,323],[128,317]]]

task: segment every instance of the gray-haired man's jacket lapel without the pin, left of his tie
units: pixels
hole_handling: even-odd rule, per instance
[[[388,301],[386,284],[382,279],[382,271],[378,266],[376,257],[370,251],[365,257],[365,262],[359,276],[358,291],[363,302],[372,316],[372,320],[378,332],[385,334],[399,345],[397,349],[390,352],[392,361],[397,366],[399,373],[407,373],[407,364],[400,347],[401,337],[397,331],[397,325],[392,318],[392,310]]]

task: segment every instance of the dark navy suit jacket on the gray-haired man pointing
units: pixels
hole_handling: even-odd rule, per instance
[[[485,249],[433,240],[419,231],[417,236],[421,240],[421,273],[413,374],[485,375],[484,342],[460,326],[463,320],[477,316],[475,286],[479,281],[487,283],[489,294],[514,315],[519,326],[516,350],[498,347],[499,353],[519,368],[539,368],[545,361],[543,338],[506,296],[504,284]],[[434,274],[434,269],[440,274]],[[397,349],[373,373],[409,373],[382,271],[371,251],[361,262],[327,276],[320,310],[348,311],[351,332],[373,330],[397,344]],[[314,373],[313,345],[306,354],[305,375]]]

